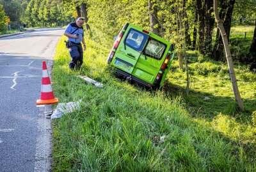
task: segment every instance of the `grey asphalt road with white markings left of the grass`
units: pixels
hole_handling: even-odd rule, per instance
[[[0,171],[49,170],[51,121],[36,107],[36,99],[40,99],[42,61],[51,73],[63,32],[36,29],[0,38]]]

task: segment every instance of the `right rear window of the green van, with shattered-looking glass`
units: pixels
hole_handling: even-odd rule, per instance
[[[147,47],[145,49],[145,54],[149,57],[160,60],[162,59],[166,47],[167,46],[165,44],[151,38],[148,41]]]

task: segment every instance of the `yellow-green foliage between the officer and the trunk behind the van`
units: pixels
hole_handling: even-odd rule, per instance
[[[145,0],[89,0],[87,3],[90,6],[88,23],[92,29],[93,39],[108,47],[127,22],[149,29],[147,1]]]

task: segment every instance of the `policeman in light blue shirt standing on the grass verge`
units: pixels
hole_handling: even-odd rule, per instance
[[[77,18],[76,22],[68,24],[64,35],[68,37],[70,41],[70,48],[68,48],[71,61],[69,64],[70,69],[80,69],[83,64],[83,48],[81,41],[83,43],[84,51],[86,46],[84,43],[84,30],[83,30],[84,18]]]

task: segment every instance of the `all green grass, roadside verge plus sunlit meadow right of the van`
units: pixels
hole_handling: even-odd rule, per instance
[[[255,74],[246,66],[237,66],[248,110],[241,113],[225,64],[191,59],[189,97],[177,62],[163,90],[147,91],[115,78],[106,64],[111,47],[89,39],[83,68],[70,71],[64,39],[56,49],[54,94],[62,103],[83,103],[52,121],[53,171],[255,171]]]

